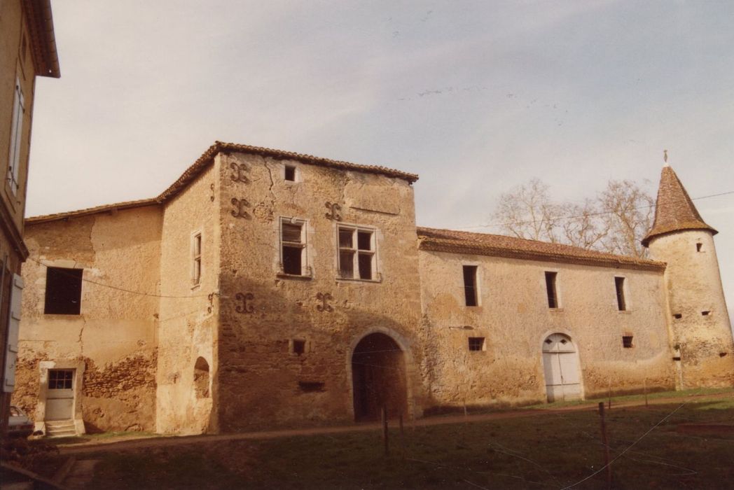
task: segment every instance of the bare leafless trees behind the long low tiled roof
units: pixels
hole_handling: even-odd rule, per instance
[[[644,257],[640,240],[652,224],[655,201],[630,180],[610,180],[581,205],[554,202],[534,178],[498,199],[493,221],[507,235]]]

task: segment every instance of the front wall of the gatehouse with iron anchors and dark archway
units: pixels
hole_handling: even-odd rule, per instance
[[[297,182],[284,180],[286,163],[297,168]],[[353,420],[352,351],[371,332],[390,335],[404,350],[407,410],[421,414],[413,188],[381,175],[245,154],[222,156],[220,179],[222,430]],[[233,200],[244,201],[241,212]],[[339,221],[327,217],[334,211],[327,202],[341,207]],[[306,221],[310,277],[280,274],[280,217]],[[338,279],[338,223],[374,228],[377,281]],[[330,296],[324,302],[319,295]],[[305,340],[307,352],[291,354],[294,339]]]

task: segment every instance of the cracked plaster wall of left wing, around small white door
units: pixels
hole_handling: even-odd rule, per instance
[[[26,227],[13,401],[37,422],[40,362],[82,361],[87,430],[154,430],[160,230],[154,206]],[[44,314],[46,266],[84,268],[80,315]]]

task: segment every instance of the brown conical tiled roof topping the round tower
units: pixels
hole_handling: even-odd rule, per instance
[[[642,244],[647,246],[655,236],[680,230],[708,230],[713,235],[719,233],[705,224],[678,176],[666,165],[660,175],[653,229],[642,238]]]

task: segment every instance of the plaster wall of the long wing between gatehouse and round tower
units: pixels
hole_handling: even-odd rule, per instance
[[[659,272],[543,263],[503,257],[419,252],[426,379],[437,406],[545,401],[542,342],[575,343],[586,396],[675,385]],[[462,266],[478,266],[479,306],[465,306]],[[560,307],[551,310],[545,271],[556,271]],[[625,277],[620,312],[614,277]],[[466,327],[470,327],[466,328]],[[633,335],[633,348],[622,335]],[[485,351],[469,351],[484,337]]]

